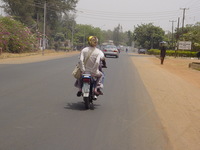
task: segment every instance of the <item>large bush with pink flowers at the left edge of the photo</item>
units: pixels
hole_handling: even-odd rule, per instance
[[[0,18],[0,47],[4,52],[30,52],[36,43],[36,36],[22,23],[11,17]]]

